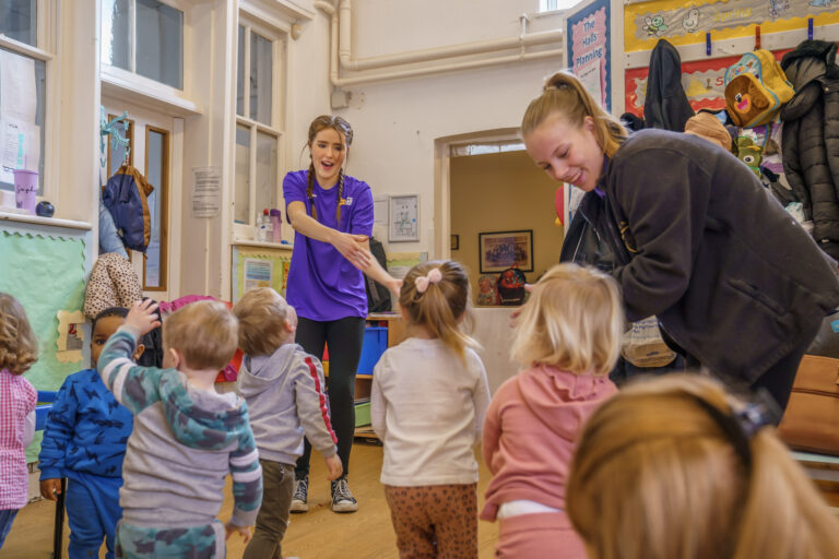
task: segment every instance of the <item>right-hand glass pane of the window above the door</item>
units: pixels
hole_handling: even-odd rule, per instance
[[[137,0],[137,73],[184,88],[184,12]]]

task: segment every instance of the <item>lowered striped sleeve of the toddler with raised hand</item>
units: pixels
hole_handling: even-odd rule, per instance
[[[245,425],[239,437],[239,448],[231,453],[234,501],[231,523],[252,526],[262,504],[262,466],[259,465],[259,452],[247,412],[243,414],[243,421]]]

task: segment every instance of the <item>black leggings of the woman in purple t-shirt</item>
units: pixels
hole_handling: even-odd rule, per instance
[[[300,318],[297,322],[296,342],[304,350],[318,358],[323,357],[323,345],[329,345],[329,378],[327,394],[332,429],[338,437],[338,455],[350,472],[350,451],[355,436],[355,371],[362,357],[365,320],[362,317],[318,322]],[[300,479],[309,474],[311,444],[306,439],[303,455],[297,459],[295,477]]]

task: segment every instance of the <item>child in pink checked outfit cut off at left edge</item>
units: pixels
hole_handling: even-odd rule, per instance
[[[28,497],[26,447],[35,435],[38,393],[22,374],[38,359],[38,341],[17,299],[0,293],[0,548]]]

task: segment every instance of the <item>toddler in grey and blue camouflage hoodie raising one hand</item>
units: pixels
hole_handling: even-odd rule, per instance
[[[236,318],[217,301],[179,309],[163,326],[164,369],[140,367],[130,357],[137,340],[159,325],[156,307],[135,304],[97,364],[105,385],[134,414],[116,555],[223,558],[231,534],[249,539],[262,499],[247,404],[213,385],[236,350]],[[228,473],[235,507],[222,525],[215,516]]]

